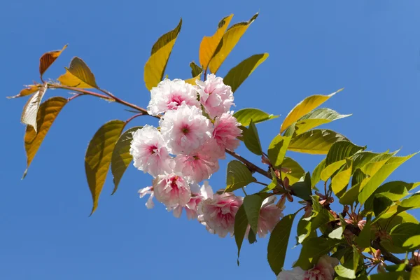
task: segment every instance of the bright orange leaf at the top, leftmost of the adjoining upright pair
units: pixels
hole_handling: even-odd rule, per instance
[[[207,69],[207,67],[209,66],[210,59],[211,57],[213,57],[218,44],[221,42],[223,34],[228,28],[228,25],[230,24],[230,20],[232,20],[232,17],[233,17],[233,14],[228,15],[227,17],[223,18],[218,23],[218,29],[216,33],[211,37],[204,36],[204,38],[202,39],[202,42],[200,43],[199,57],[200,57],[200,64],[202,65],[203,69]]]

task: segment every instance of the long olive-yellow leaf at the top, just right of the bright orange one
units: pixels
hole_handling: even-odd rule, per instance
[[[226,57],[228,57],[233,48],[235,48],[235,45],[239,42],[241,36],[244,35],[246,29],[248,29],[249,25],[251,25],[257,17],[258,13],[253,15],[251,20],[248,20],[247,22],[239,22],[236,25],[232,25],[232,27],[223,34],[223,37],[210,60],[209,69],[211,73],[216,73],[218,71]]]

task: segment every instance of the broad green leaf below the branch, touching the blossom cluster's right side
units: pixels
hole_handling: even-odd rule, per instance
[[[255,182],[255,178],[253,178],[248,167],[238,160],[229,162],[225,192],[232,192],[252,182]]]

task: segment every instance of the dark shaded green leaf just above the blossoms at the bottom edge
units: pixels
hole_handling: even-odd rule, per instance
[[[302,250],[293,267],[301,267],[304,270],[311,269],[318,259],[330,252],[331,249],[342,241],[325,237],[314,237],[307,239],[302,244]]]

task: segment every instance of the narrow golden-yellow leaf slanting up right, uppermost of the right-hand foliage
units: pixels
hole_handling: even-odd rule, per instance
[[[320,106],[325,101],[330,99],[330,97],[332,97],[334,94],[336,94],[337,92],[340,92],[342,90],[343,89],[337,90],[336,92],[333,92],[332,94],[328,94],[328,95],[316,94],[316,95],[312,95],[310,97],[307,97],[307,98],[303,99],[302,102],[297,104],[295,106],[295,108],[293,108],[292,111],[290,111],[290,113],[288,113],[288,115],[286,116],[286,118],[283,121],[283,124],[281,124],[280,133],[283,132],[284,130],[286,130],[286,128],[290,127],[290,125],[295,123],[297,120],[302,118],[304,115],[306,115],[310,111],[316,109],[316,107]]]

